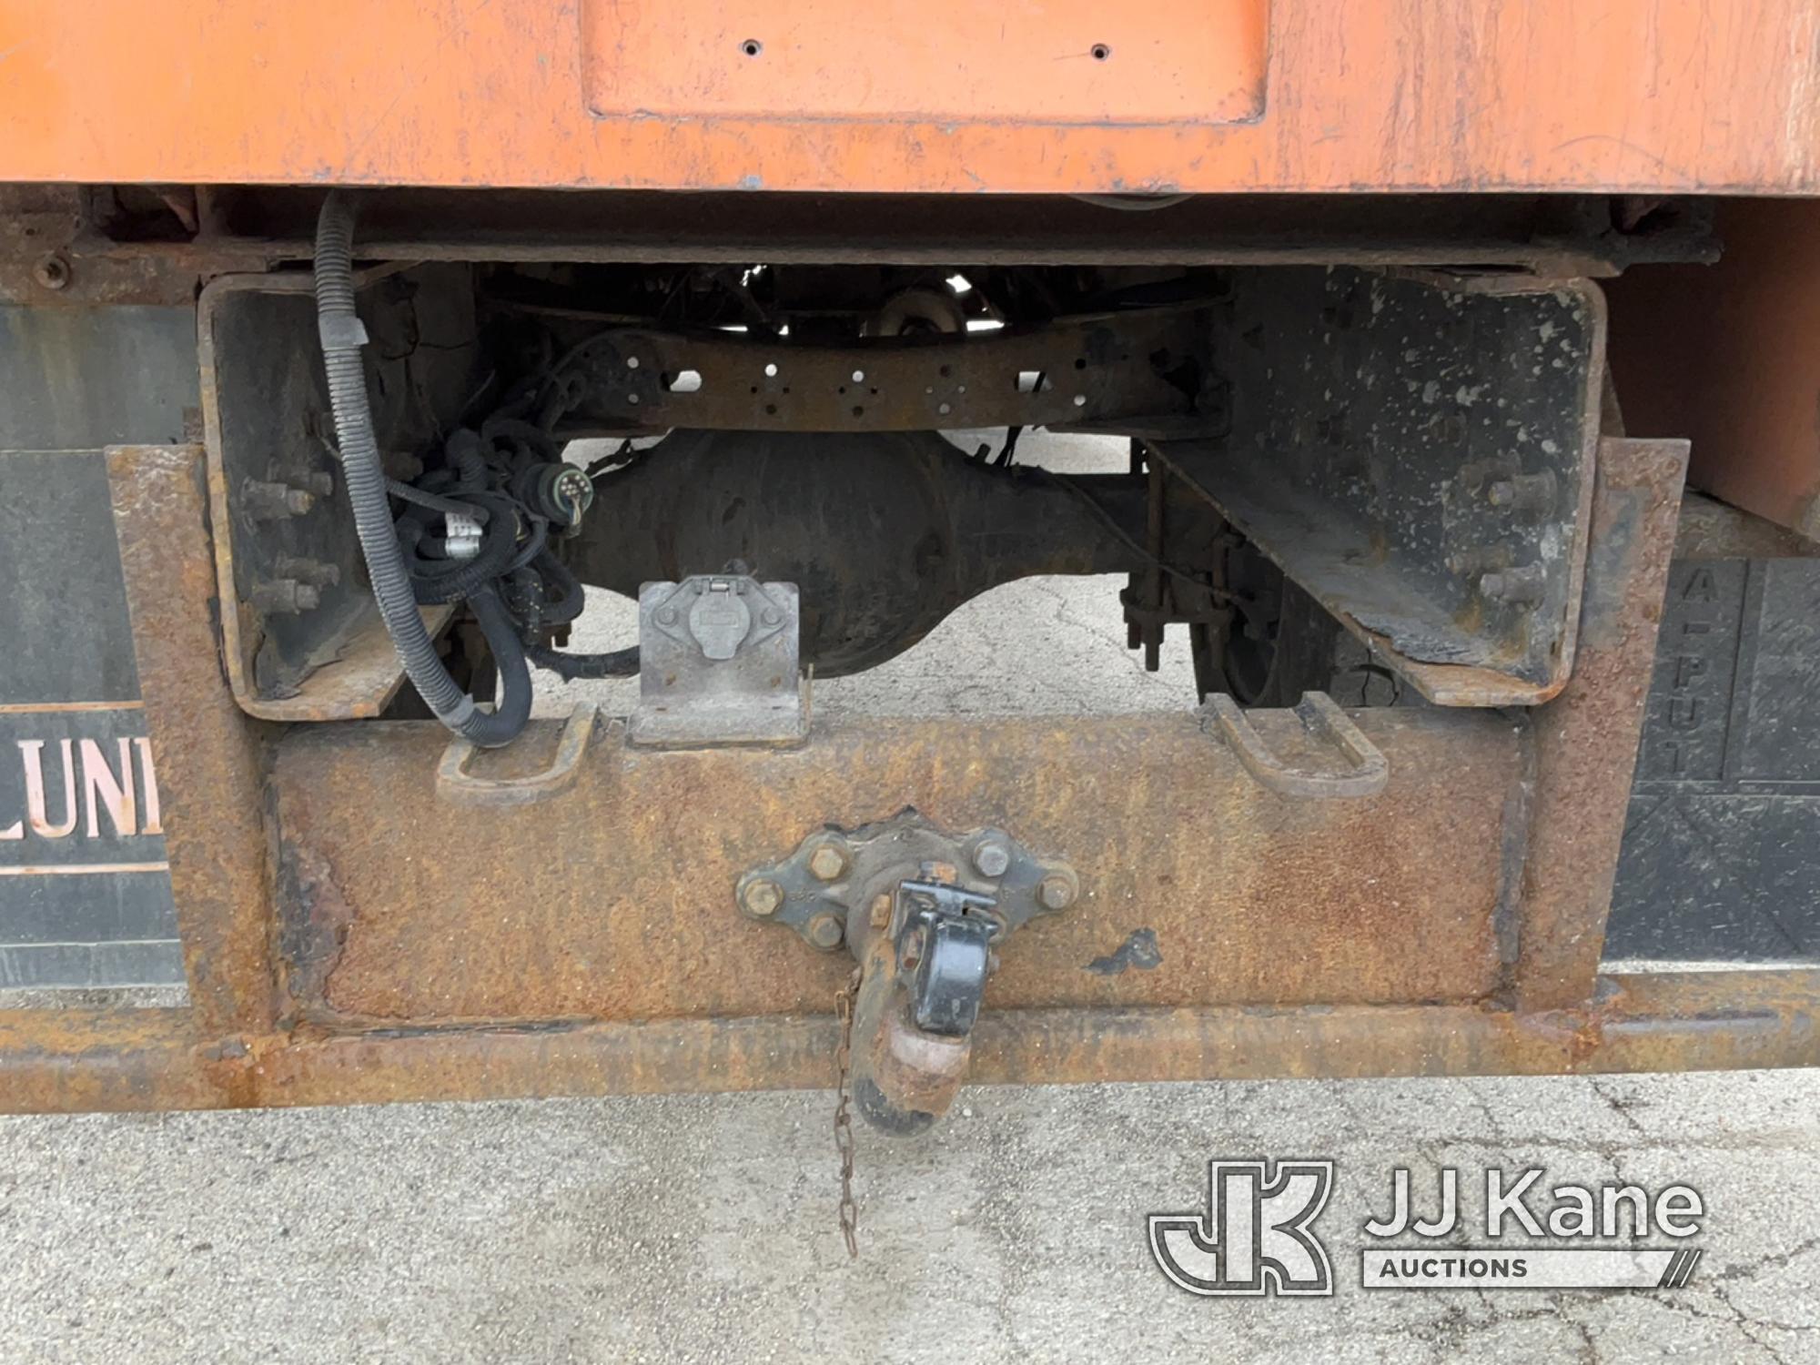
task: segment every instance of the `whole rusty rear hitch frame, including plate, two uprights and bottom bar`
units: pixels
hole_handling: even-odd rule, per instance
[[[200,451],[118,448],[193,1005],[0,1012],[0,1108],[832,1085],[852,961],[733,888],[905,806],[1079,870],[1005,945],[972,1081],[1820,1065],[1820,972],[1598,976],[1684,460],[1602,444],[1560,697],[1354,712],[1389,779],[1321,799],[1199,713],[817,721],[792,752],[584,717],[466,768],[430,723],[286,730],[222,672]],[[1318,761],[1296,713],[1249,721]]]

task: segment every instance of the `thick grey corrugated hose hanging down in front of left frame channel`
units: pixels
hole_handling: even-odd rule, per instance
[[[515,648],[515,632],[510,628],[500,632],[513,637],[511,655],[504,653],[497,642],[493,644],[506,701],[497,712],[482,712],[473,704],[473,697],[450,677],[450,670],[437,655],[437,646],[417,612],[417,593],[404,571],[404,555],[391,524],[386,470],[379,455],[379,439],[373,435],[373,411],[366,399],[366,368],[360,362],[366,328],[360,326],[360,315],[353,304],[353,202],[339,189],[331,191],[317,218],[317,333],[322,339],[322,368],[328,373],[329,404],[335,410],[335,439],[340,446],[342,477],[348,482],[348,500],[353,504],[355,531],[360,537],[360,553],[366,557],[366,573],[373,584],[373,601],[379,604],[379,613],[411,686],[417,688],[435,717],[475,744],[497,748],[511,743],[530,715],[530,670],[522,650]],[[473,597],[477,613],[482,610],[482,599],[490,599],[486,610],[497,612],[500,617],[506,615],[497,595],[488,590]],[[491,642],[495,632],[486,630],[484,617],[482,630]],[[508,659],[517,661],[517,679],[511,677]],[[526,693],[522,708],[517,704],[519,693]]]

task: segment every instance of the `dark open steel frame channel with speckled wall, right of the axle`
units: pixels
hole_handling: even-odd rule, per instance
[[[1441,706],[1532,706],[1574,657],[1605,309],[1585,280],[1256,271],[1214,328],[1227,435],[1152,440]]]

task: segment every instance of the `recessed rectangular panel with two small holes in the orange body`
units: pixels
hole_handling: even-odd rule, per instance
[[[582,0],[610,118],[1234,124],[1265,98],[1269,0]]]

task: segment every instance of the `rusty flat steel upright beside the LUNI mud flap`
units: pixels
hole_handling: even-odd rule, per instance
[[[107,482],[197,1030],[264,1032],[277,994],[262,732],[222,675],[202,448],[113,446]]]

